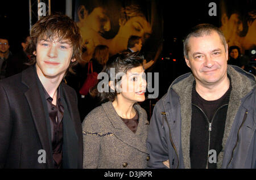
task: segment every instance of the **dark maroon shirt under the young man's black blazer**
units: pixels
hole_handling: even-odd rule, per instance
[[[44,89],[44,96],[47,100],[47,109],[49,112],[49,118],[51,119],[51,140],[52,140],[52,157],[54,160],[54,168],[62,168],[63,158],[63,114],[64,106],[61,104],[61,92],[60,87],[57,89],[57,101],[56,105],[52,104],[52,98],[48,95],[46,89]]]

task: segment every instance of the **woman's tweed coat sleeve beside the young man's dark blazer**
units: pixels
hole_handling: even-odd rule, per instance
[[[84,143],[84,158],[82,168],[96,169],[100,158],[100,128],[97,115],[89,113],[82,122],[82,139]]]

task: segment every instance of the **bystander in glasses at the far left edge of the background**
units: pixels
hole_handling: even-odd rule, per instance
[[[10,52],[8,37],[0,37],[0,79],[6,78],[6,68],[9,66],[9,60],[12,57]]]

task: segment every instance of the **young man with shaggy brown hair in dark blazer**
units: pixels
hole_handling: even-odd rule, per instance
[[[82,168],[76,92],[63,83],[81,60],[79,28],[49,15],[31,38],[31,67],[0,82],[0,168]]]

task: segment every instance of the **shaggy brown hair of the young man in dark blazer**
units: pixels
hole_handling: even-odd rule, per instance
[[[38,20],[31,28],[32,41],[28,45],[26,52],[31,55],[28,65],[36,63],[36,45],[40,40],[61,41],[69,40],[73,45],[73,54],[71,59],[76,59],[71,62],[68,71],[73,73],[72,67],[81,61],[82,37],[80,35],[79,27],[73,22],[71,18],[63,14],[53,14],[45,16]]]

